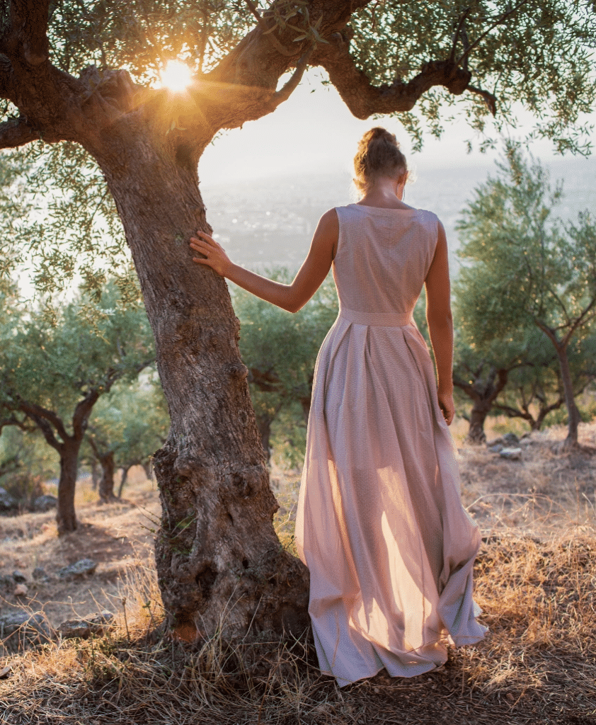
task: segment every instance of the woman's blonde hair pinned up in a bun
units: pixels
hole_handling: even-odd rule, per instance
[[[354,157],[356,188],[365,194],[381,176],[400,177],[407,173],[407,162],[394,133],[376,126],[358,142]]]

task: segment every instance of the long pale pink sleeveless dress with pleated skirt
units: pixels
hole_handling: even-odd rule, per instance
[[[412,316],[438,219],[336,212],[339,315],[315,366],[296,542],[320,670],[344,686],[382,668],[422,674],[486,628],[472,599],[479,529]]]

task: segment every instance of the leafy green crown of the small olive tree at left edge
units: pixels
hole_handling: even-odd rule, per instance
[[[81,397],[106,392],[116,379],[133,381],[154,358],[149,322],[136,288],[136,304],[122,305],[115,283],[99,300],[87,293],[33,310],[1,301],[0,405],[20,400],[68,420]]]

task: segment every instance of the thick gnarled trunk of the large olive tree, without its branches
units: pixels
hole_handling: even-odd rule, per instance
[[[225,281],[191,261],[189,237],[208,229],[199,152],[161,148],[165,133],[152,144],[152,132],[138,125],[127,136],[110,130],[90,150],[123,220],[170,410],[170,434],[153,461],[165,610],[183,636],[297,633],[308,622],[307,569],[273,529],[277,503],[239,355],[238,320]]]

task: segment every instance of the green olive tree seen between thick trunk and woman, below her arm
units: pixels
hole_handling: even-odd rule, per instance
[[[294,276],[283,268],[265,274],[281,282]],[[308,421],[318,349],[339,309],[335,286],[327,278],[295,315],[240,288],[233,292],[233,306],[241,326],[240,354],[249,370],[252,405],[269,460],[275,423],[278,437],[291,449],[294,440],[303,439],[294,428],[305,428]]]

